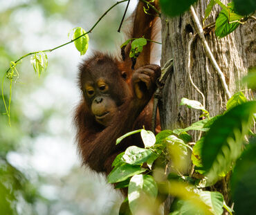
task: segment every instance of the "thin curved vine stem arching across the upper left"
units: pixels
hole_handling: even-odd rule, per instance
[[[22,57],[20,57],[19,59],[17,59],[17,61],[15,61],[15,64],[17,64],[17,62],[19,62],[21,59],[24,59],[24,57],[28,57],[29,55],[34,55],[37,53],[46,53],[46,52],[52,52],[53,50],[57,49],[57,48],[61,48],[62,46],[66,46],[68,44],[73,43],[73,41],[79,39],[80,37],[83,37],[84,35],[87,35],[89,33],[91,33],[93,31],[93,29],[98,25],[98,23],[100,22],[100,20],[107,15],[107,13],[113,9],[114,7],[116,7],[119,3],[125,2],[125,1],[129,1],[129,0],[122,0],[122,1],[117,1],[115,4],[113,4],[113,6],[111,6],[106,12],[104,12],[104,14],[98,19],[98,21],[96,21],[96,23],[93,25],[93,27],[91,27],[91,29],[87,32],[85,32],[83,35],[80,35],[79,37],[75,38],[75,39],[71,39],[71,41],[66,42],[65,44],[62,44],[60,46],[57,46],[55,48],[50,48],[50,49],[46,49],[46,50],[42,50],[42,51],[36,51],[33,53],[28,53]],[[8,73],[8,71],[10,71],[10,67],[8,68],[8,70],[6,71],[6,73]]]

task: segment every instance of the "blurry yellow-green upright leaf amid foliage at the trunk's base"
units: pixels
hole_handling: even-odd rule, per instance
[[[166,142],[166,149],[172,166],[181,172],[185,171],[188,167],[188,145],[175,135],[168,136]]]

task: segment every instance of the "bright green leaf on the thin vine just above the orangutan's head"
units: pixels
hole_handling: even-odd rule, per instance
[[[86,33],[86,31],[81,27],[74,28],[73,31],[74,31],[74,34],[72,37],[73,40]],[[77,50],[80,52],[80,55],[84,55],[86,53],[86,50],[88,49],[88,45],[89,45],[88,34],[80,37],[79,39],[76,39],[74,41],[74,43],[75,43],[75,48],[77,48]]]

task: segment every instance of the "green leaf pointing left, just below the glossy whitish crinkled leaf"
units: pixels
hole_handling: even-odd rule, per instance
[[[111,171],[109,174],[108,182],[109,183],[118,183],[122,180],[127,180],[127,178],[134,176],[136,174],[141,174],[147,169],[141,168],[135,165],[125,164],[120,167],[117,167]]]

